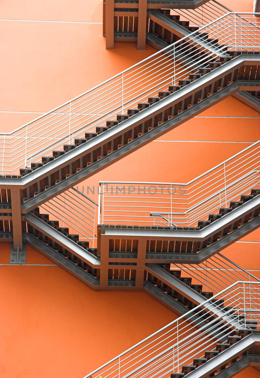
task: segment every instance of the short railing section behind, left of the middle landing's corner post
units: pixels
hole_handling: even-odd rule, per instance
[[[60,227],[68,227],[70,234],[79,234],[80,241],[96,246],[98,204],[76,188],[57,195],[40,206],[40,213],[48,212],[50,220],[59,220]]]

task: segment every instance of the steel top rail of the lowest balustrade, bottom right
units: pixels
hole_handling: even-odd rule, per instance
[[[133,350],[134,348],[138,347],[139,345],[141,345],[143,342],[151,339],[153,336],[156,336],[158,335],[158,333],[164,331],[166,328],[170,327],[171,325],[179,322],[181,319],[184,319],[186,318],[188,315],[192,314],[193,312],[195,313],[196,310],[198,310],[199,308],[203,307],[205,304],[209,303],[210,301],[212,301],[212,299],[215,299],[216,297],[220,296],[221,294],[224,294],[226,291],[234,288],[236,285],[239,285],[239,284],[242,284],[242,287],[244,287],[245,285],[249,284],[249,285],[257,285],[260,287],[260,282],[253,282],[253,281],[237,281],[237,282],[234,282],[232,283],[232,285],[230,285],[229,287],[225,288],[224,290],[220,291],[219,293],[215,294],[213,297],[211,297],[210,299],[207,299],[206,301],[204,301],[202,304],[194,307],[192,310],[188,311],[187,313],[185,313],[184,315],[180,316],[180,318],[178,319],[175,319],[173,320],[172,322],[170,322],[169,324],[165,325],[164,327],[160,328],[158,331],[152,333],[152,335],[148,336],[147,338],[143,339],[142,341],[139,341],[137,344],[133,345],[131,348],[125,350],[123,353],[119,354],[118,356],[112,358],[110,361],[108,361],[107,363],[105,363],[104,365],[100,366],[99,368],[97,368],[96,370],[94,370],[93,372],[89,373],[88,375],[85,375],[84,378],[88,378],[90,377],[91,375],[93,375],[94,373],[98,372],[99,370],[103,369],[103,367],[106,367],[108,364],[116,361],[116,359],[118,359],[119,357],[122,357],[124,356],[126,353],[130,352],[131,350]]]

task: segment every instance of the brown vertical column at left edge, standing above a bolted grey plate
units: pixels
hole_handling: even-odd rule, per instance
[[[22,240],[22,218],[21,218],[21,197],[19,189],[11,189],[12,206],[12,232],[14,235],[14,250],[23,249]]]

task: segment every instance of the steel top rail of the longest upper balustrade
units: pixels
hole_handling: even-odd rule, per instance
[[[190,36],[193,36],[193,35],[197,34],[197,33],[200,32],[201,30],[203,30],[204,28],[207,28],[207,26],[210,26],[210,25],[212,25],[213,23],[218,22],[219,20],[223,19],[224,17],[228,17],[229,15],[232,15],[232,14],[233,14],[233,15],[238,15],[238,16],[239,16],[239,14],[260,15],[260,12],[232,12],[232,11],[229,11],[229,12],[227,12],[226,14],[222,15],[221,17],[218,17],[217,19],[215,19],[215,20],[209,22],[208,24],[203,25],[203,26],[202,26],[201,28],[199,28],[198,30],[196,30],[196,31],[194,31],[194,32],[192,32],[192,33],[190,33],[189,36],[185,36],[185,37],[181,38],[180,40],[178,40],[178,41],[172,43],[171,45],[169,45],[169,46],[163,48],[162,50],[157,51],[156,53],[154,53],[154,54],[150,55],[149,57],[147,57],[147,58],[141,60],[140,62],[138,62],[138,63],[132,65],[131,67],[128,67],[127,69],[121,71],[120,73],[118,73],[118,74],[116,74],[116,75],[110,77],[109,79],[105,80],[104,82],[102,82],[102,83],[100,83],[100,84],[94,86],[93,88],[91,88],[91,89],[89,89],[89,90],[87,90],[87,91],[81,93],[80,95],[78,95],[78,96],[76,96],[76,97],[74,97],[74,98],[72,98],[72,99],[70,99],[70,100],[64,102],[62,105],[57,106],[56,108],[50,110],[49,112],[46,112],[46,113],[43,114],[42,116],[39,116],[39,117],[33,119],[32,121],[27,122],[26,124],[24,124],[24,125],[18,127],[17,129],[13,130],[12,132],[9,132],[9,133],[0,133],[0,135],[12,135],[13,133],[15,133],[15,132],[17,132],[17,131],[19,131],[19,130],[25,128],[25,127],[27,127],[28,125],[30,125],[30,124],[32,124],[32,123],[34,123],[34,122],[36,122],[36,121],[39,121],[40,119],[44,118],[45,116],[47,116],[47,115],[49,115],[49,114],[51,114],[51,113],[56,112],[56,110],[58,110],[58,109],[64,107],[65,105],[70,104],[71,102],[73,102],[73,101],[79,99],[80,97],[82,97],[82,96],[84,96],[84,95],[87,95],[87,93],[90,93],[91,91],[93,91],[93,90],[95,90],[95,89],[101,87],[102,85],[104,85],[104,84],[110,82],[111,80],[115,79],[116,77],[120,76],[121,74],[124,74],[124,73],[128,72],[129,70],[132,70],[132,68],[135,68],[135,67],[137,67],[138,65],[141,65],[142,63],[146,62],[147,60],[153,58],[154,56],[157,56],[158,54],[161,54],[162,52],[168,50],[169,48],[171,48],[171,47],[174,46],[175,44],[177,44],[177,43],[179,44],[180,42],[182,42],[183,40],[189,38]],[[253,24],[253,25],[254,25],[254,24]],[[257,25],[254,25],[254,26],[255,26],[255,27],[258,27]]]

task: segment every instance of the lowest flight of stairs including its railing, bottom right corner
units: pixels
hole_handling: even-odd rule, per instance
[[[213,315],[212,307],[211,310],[206,307],[213,305],[214,296],[84,378],[100,375],[111,378],[118,369],[131,378],[228,377],[253,362],[254,366],[259,365],[259,283],[251,284],[256,310],[249,299],[242,304],[237,297],[240,288],[247,295],[249,286],[249,282],[237,282],[219,293],[230,305],[229,309],[226,307],[226,320],[220,312]]]

